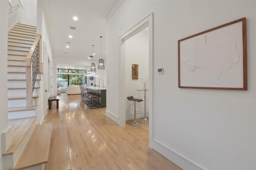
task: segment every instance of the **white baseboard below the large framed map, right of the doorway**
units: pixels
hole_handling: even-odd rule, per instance
[[[175,150],[167,147],[166,145],[160,143],[156,139],[152,139],[152,149],[156,150],[168,160],[180,166],[184,170],[207,170],[206,168],[198,165],[192,160],[186,158],[186,156],[176,152]]]

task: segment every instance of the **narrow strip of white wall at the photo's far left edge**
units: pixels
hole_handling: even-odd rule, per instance
[[[8,0],[0,1],[0,132],[8,128],[7,103],[7,32],[8,32]],[[2,157],[2,138],[0,135],[0,169],[4,169]]]

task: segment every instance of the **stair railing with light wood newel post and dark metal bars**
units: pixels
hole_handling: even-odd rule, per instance
[[[40,38],[36,36],[28,55],[26,57],[26,100],[27,108],[33,107],[33,90],[38,70],[40,70]]]

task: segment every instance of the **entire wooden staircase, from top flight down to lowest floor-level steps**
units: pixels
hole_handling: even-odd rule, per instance
[[[30,25],[17,23],[8,32],[9,128],[1,134],[4,170],[71,170],[65,126],[36,125],[41,73],[36,76],[33,107],[27,107],[26,56],[36,38],[36,27]]]

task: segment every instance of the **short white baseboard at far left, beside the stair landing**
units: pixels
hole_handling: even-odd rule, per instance
[[[7,127],[1,134],[2,154],[7,153],[7,150],[12,145],[11,129],[12,127]]]

